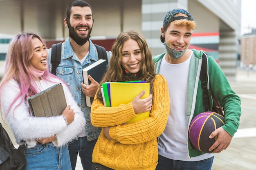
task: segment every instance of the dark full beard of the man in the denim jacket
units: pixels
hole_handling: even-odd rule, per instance
[[[78,33],[76,33],[76,31],[75,31],[76,29],[70,25],[70,22],[68,20],[67,20],[67,26],[68,26],[68,30],[70,32],[70,38],[73,39],[76,42],[76,44],[78,44],[79,46],[83,46],[83,44],[85,44],[88,41],[88,39],[91,37],[92,28],[90,28],[89,26],[79,25],[76,27],[76,28],[78,28],[78,27],[88,28],[89,32],[88,32],[87,36],[79,35]]]

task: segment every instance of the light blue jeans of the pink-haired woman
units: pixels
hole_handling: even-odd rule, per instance
[[[52,142],[26,147],[25,158],[25,170],[71,170],[67,146],[56,147]]]

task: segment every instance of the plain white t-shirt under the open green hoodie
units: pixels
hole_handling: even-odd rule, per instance
[[[191,55],[189,59],[178,64],[167,63],[164,56],[159,70],[159,74],[162,74],[168,83],[171,109],[166,128],[159,136],[158,150],[159,155],[173,160],[199,161],[212,157],[209,154],[191,159],[188,157],[186,95]]]

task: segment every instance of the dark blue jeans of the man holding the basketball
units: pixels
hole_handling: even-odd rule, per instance
[[[211,170],[213,157],[202,161],[178,161],[158,155],[155,170]]]

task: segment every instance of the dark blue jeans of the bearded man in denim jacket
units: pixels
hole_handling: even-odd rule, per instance
[[[83,170],[92,169],[92,151],[96,142],[97,139],[88,142],[87,137],[79,137],[68,146],[72,170],[76,168],[77,152],[81,158]]]

